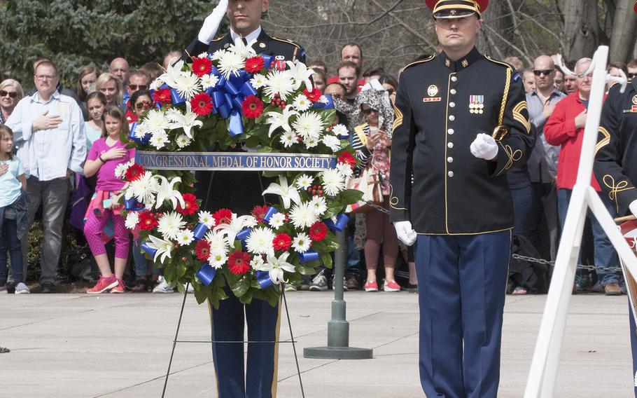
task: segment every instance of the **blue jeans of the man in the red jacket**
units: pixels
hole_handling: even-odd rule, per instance
[[[557,211],[559,213],[559,226],[564,231],[564,222],[566,221],[566,212],[568,211],[568,203],[570,203],[570,195],[573,193],[570,189],[561,188],[557,191]],[[599,193],[601,201],[604,203],[606,210],[611,217],[615,216],[615,208],[608,201],[605,195]],[[599,225],[595,217],[591,217],[591,226],[593,228],[593,240],[595,249],[595,266],[596,267],[619,267],[619,259],[615,247],[612,247],[610,239]],[[578,263],[581,262],[578,260]],[[602,285],[619,282],[619,273],[596,270],[598,281]]]

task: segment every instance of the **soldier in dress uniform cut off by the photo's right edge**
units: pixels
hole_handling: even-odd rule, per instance
[[[637,1],[634,11],[637,13]],[[615,205],[619,217],[637,217],[637,80],[626,90],[612,86],[603,104],[595,149],[594,173],[603,193]],[[635,275],[633,275],[634,277]],[[633,310],[637,305],[637,285],[629,277],[630,336],[633,353],[633,375],[637,381],[637,327]],[[637,397],[637,387],[635,387]]]

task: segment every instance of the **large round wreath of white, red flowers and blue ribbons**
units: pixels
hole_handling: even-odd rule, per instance
[[[126,181],[120,192],[126,226],[141,236],[146,256],[173,286],[183,292],[190,283],[197,302],[209,299],[215,308],[228,298],[226,285],[242,303],[262,299],[274,306],[281,282],[298,284],[320,263],[331,267],[335,231],[346,225],[346,206],[361,195],[346,189],[356,165],[349,132],[334,125],[331,99],[313,88],[311,69],[256,55],[251,44],[168,67],[151,84],[156,107],[123,137],[137,149],[137,163],[116,169]],[[255,206],[251,214],[202,211],[190,170],[139,162],[139,153],[203,153],[213,144],[333,162],[321,171],[262,171],[276,177],[263,194],[278,195],[279,203]],[[226,188],[212,186],[210,194]]]

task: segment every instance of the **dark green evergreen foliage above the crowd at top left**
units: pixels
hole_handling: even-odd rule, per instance
[[[0,1],[0,71],[32,86],[38,56],[55,61],[67,87],[78,70],[95,62],[106,70],[114,57],[132,67],[162,63],[183,50],[216,2],[209,0]],[[222,28],[222,32],[223,32]]]

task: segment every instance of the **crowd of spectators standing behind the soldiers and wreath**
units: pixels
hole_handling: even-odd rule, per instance
[[[168,53],[163,67],[179,57],[179,52]],[[587,69],[591,60],[582,58],[566,62],[565,67],[557,65],[557,57],[549,55],[540,55],[529,67],[517,57],[505,61],[519,74],[514,78],[524,82],[531,125],[538,135],[528,164],[512,169],[508,174],[515,211],[514,235],[530,242],[541,259],[551,260],[556,255],[559,232],[575,184],[587,118],[591,85],[591,74]],[[339,122],[350,130],[351,145],[360,160],[356,172],[363,172],[365,168],[374,170],[379,175],[384,197],[381,205],[351,217],[342,283],[348,290],[417,291],[413,249],[398,241],[388,217],[389,156],[398,79],[382,67],[367,67],[364,62],[363,50],[356,43],[346,43],[342,47],[336,65],[321,60],[309,62],[309,67],[314,70],[311,77],[315,87],[325,95],[331,95]],[[102,192],[96,189],[99,166],[109,160],[108,147],[99,151],[99,146],[104,146],[109,137],[105,114],[110,115],[109,118],[118,118],[121,114],[126,125],[137,121],[144,111],[154,106],[149,87],[162,73],[162,67],[148,62],[138,69],[131,69],[122,57],[113,59],[104,71],[96,64],[87,64],[78,71],[75,90],[60,83],[55,64],[50,59],[38,57],[33,67],[35,89],[31,92],[25,93],[20,82],[11,78],[0,81],[0,125],[6,126],[0,135],[0,163],[15,158],[20,165],[16,165],[15,170],[0,166],[0,184],[11,178],[20,181],[22,176],[29,198],[27,227],[35,217],[41,218],[39,291],[56,291],[63,227],[69,224],[76,228],[78,247],[93,249],[102,279],[108,282],[94,287],[97,292],[106,285],[108,287],[102,291],[174,292],[163,279],[161,270],[153,268],[146,260],[139,242],[130,244],[132,236],[124,237],[122,231],[118,231],[113,269],[99,239],[103,226],[94,220],[84,224],[85,210],[90,206],[92,195]],[[627,65],[611,63],[608,72],[635,78],[637,60]],[[60,114],[64,114],[64,118]],[[38,131],[45,133],[38,134]],[[2,145],[9,140],[13,145],[9,152],[15,156],[4,159],[8,155]],[[96,142],[98,146],[94,146]],[[6,169],[18,174],[2,177],[7,173]],[[19,187],[13,179],[10,184]],[[600,191],[594,178],[591,184]],[[4,186],[0,185],[0,189],[4,191]],[[614,215],[608,198],[600,197]],[[1,204],[4,207],[0,207],[0,211],[10,205]],[[115,215],[113,220],[120,221]],[[588,259],[596,267],[617,267],[617,254],[594,217],[590,224],[592,251],[583,251],[580,263]],[[21,235],[21,256],[15,257],[15,261],[20,259],[22,263],[22,268],[18,269],[13,266],[15,242],[7,240],[5,233],[5,228],[15,228],[16,224],[5,222],[0,225],[3,228],[0,235],[0,290],[24,293],[22,282],[26,282],[27,275],[28,232]],[[7,252],[12,263],[9,269],[6,267]],[[397,272],[398,268],[402,271]],[[400,284],[396,280],[398,276],[402,277]],[[621,276],[603,270],[586,273],[578,270],[576,289],[621,294],[624,289]],[[299,286],[287,286],[286,289],[325,291],[332,282],[330,270],[320,268],[316,275],[307,277]],[[20,283],[22,285],[17,289]],[[28,287],[26,289],[28,292]],[[513,294],[541,290],[513,277],[507,289]]]

